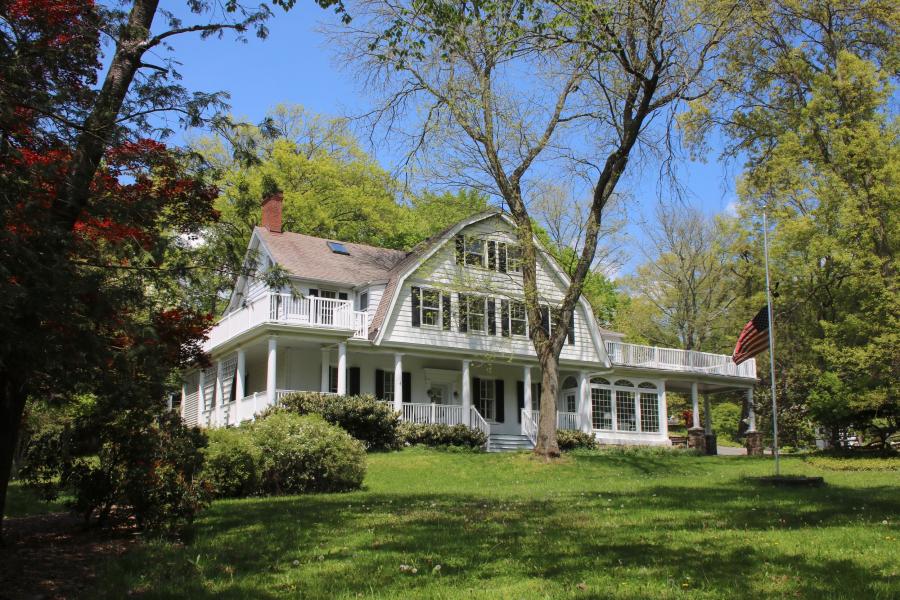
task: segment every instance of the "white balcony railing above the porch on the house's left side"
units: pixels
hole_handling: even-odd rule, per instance
[[[206,350],[263,323],[282,323],[300,327],[345,331],[355,338],[366,338],[369,315],[353,310],[350,300],[298,298],[292,294],[268,293],[249,300],[216,323],[206,342]]]

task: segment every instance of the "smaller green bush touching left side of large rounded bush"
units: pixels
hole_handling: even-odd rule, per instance
[[[203,476],[220,498],[243,498],[259,492],[261,451],[245,428],[213,429],[204,452]]]

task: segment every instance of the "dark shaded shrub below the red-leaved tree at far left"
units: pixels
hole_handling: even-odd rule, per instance
[[[175,413],[101,416],[80,415],[43,432],[26,457],[25,481],[49,499],[70,494],[86,521],[96,516],[104,524],[116,509],[150,530],[190,525],[207,502],[200,478],[205,435]]]

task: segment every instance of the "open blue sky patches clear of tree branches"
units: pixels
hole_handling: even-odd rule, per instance
[[[162,2],[164,8],[184,12],[183,0]],[[174,56],[182,83],[189,90],[227,91],[231,94],[232,113],[249,121],[259,121],[266,111],[279,103],[300,104],[310,111],[326,115],[356,115],[368,106],[370,98],[335,63],[325,37],[317,31],[323,22],[335,22],[330,11],[300,0],[289,13],[280,9],[269,23],[265,40],[249,37],[247,43],[223,39],[201,40],[199,35],[173,38]],[[185,17],[185,21],[190,21]],[[399,154],[389,147],[369,149],[386,169],[395,167]],[[716,160],[715,150],[706,163],[685,161],[679,168],[679,181],[687,194],[685,201],[709,214],[728,210],[734,201],[735,168],[726,168]],[[643,237],[640,222],[652,218],[660,195],[655,168],[632,170],[627,182],[632,204],[628,207],[629,245]],[[636,251],[625,265],[630,271],[640,260]]]

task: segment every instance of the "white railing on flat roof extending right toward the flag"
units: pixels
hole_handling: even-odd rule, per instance
[[[606,352],[613,364],[627,367],[646,367],[664,371],[689,371],[756,379],[756,360],[752,358],[736,365],[731,357],[725,354],[658,348],[623,342],[606,342]]]

